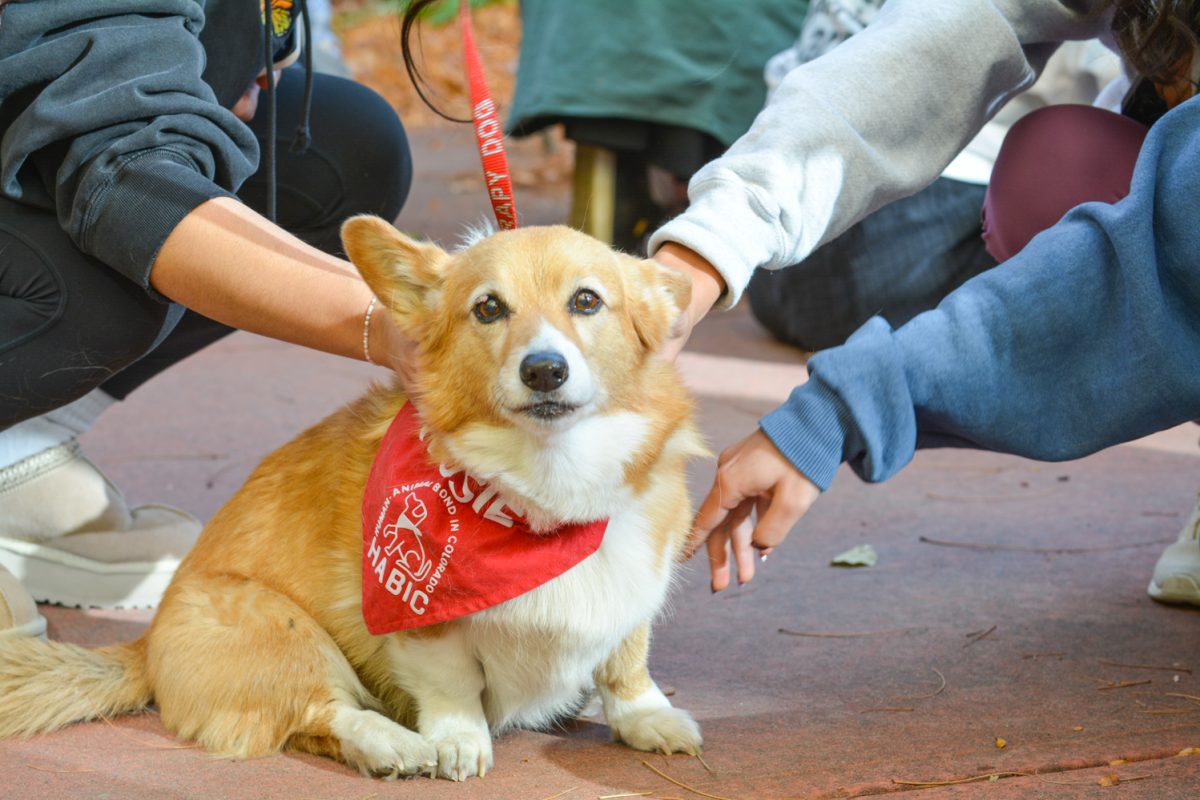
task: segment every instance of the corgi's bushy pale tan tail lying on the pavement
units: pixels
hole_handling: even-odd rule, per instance
[[[0,739],[130,714],[151,698],[142,639],[96,650],[32,637],[0,639]]]

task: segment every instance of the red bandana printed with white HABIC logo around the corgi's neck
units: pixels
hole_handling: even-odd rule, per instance
[[[496,489],[434,467],[406,404],[362,495],[362,618],[379,636],[498,606],[600,548],[607,519],[534,534]]]

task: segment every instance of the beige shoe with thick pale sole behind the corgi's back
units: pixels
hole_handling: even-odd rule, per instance
[[[40,602],[157,606],[200,527],[170,506],[128,509],[74,441],[0,470],[0,567]]]

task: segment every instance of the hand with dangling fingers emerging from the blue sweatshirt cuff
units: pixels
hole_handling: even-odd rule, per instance
[[[787,539],[820,494],[761,429],[726,449],[689,543],[689,554],[708,548],[713,591],[730,585],[733,566],[738,583],[751,581],[755,563]]]

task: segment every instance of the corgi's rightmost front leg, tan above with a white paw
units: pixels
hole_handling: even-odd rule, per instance
[[[613,739],[635,750],[700,754],[700,727],[683,709],[672,708],[646,666],[650,626],[643,625],[622,642],[595,672]]]

